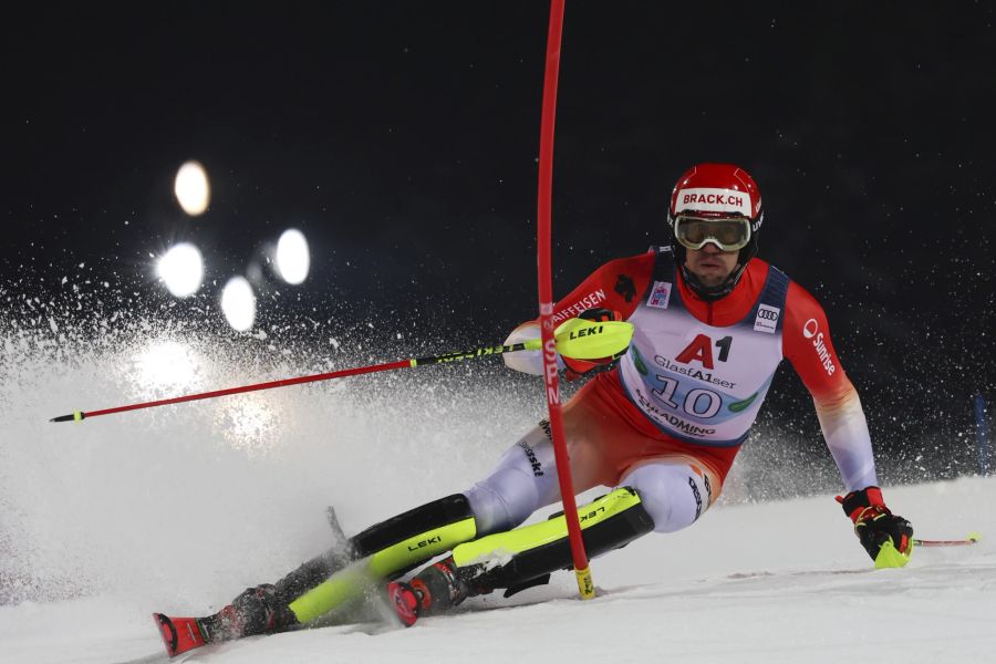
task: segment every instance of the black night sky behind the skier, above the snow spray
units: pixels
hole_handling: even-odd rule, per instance
[[[3,40],[14,291],[83,261],[153,290],[174,239],[224,280],[295,226],[305,297],[340,315],[445,314],[481,341],[533,315],[546,2],[39,4]],[[735,162],[761,257],[823,302],[870,418],[932,427],[927,402],[992,393],[993,22],[987,2],[568,2],[557,292],[667,241],[687,166]],[[214,186],[197,219],[172,198],[189,158]]]

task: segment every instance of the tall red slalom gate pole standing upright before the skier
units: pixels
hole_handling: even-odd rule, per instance
[[[550,2],[550,28],[547,34],[547,66],[543,76],[543,110],[540,123],[539,194],[537,198],[537,268],[539,276],[540,330],[543,347],[543,386],[547,409],[550,412],[550,437],[557,459],[560,479],[560,497],[567,519],[574,575],[581,598],[594,596],[594,583],[581,539],[581,522],[574,500],[574,483],[571,479],[571,461],[563,436],[563,416],[560,411],[560,382],[557,374],[557,346],[553,341],[553,279],[550,260],[551,207],[553,197],[553,125],[557,117],[557,80],[560,74],[560,41],[563,33],[564,0]]]

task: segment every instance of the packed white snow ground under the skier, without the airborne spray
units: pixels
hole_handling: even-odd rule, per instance
[[[996,532],[993,478],[886,496],[923,536]],[[921,549],[903,570],[875,571],[843,519],[829,496],[719,507],[685,532],[595,561],[591,602],[575,599],[561,573],[548,588],[479,598],[411,630],[367,621],[210,646],[187,662],[992,661],[996,553],[987,541]],[[149,612],[186,608],[164,601],[125,592],[2,606],[0,661],[157,661]]]

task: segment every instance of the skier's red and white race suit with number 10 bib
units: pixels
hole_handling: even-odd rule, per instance
[[[878,484],[861,402],[823,309],[777,268],[755,258],[730,294],[708,302],[684,282],[668,247],[652,249],[595,270],[557,303],[554,324],[592,308],[621,312],[635,333],[619,366],[564,405],[579,492],[632,486],[656,530],[691,525],[718,497],[782,357],[812,395],[847,489]],[[506,343],[539,335],[530,321]],[[518,371],[542,373],[538,352],[505,359]],[[557,500],[546,427],[527,434],[466,494],[484,530],[516,526]]]

